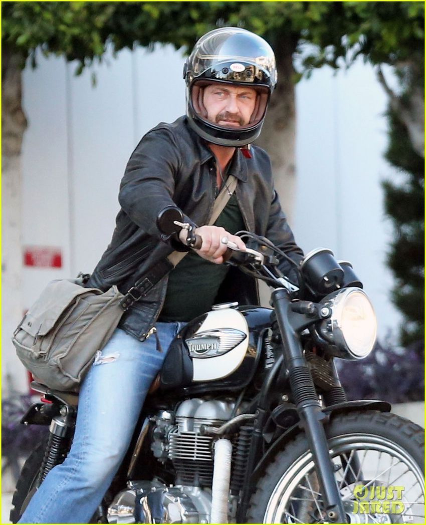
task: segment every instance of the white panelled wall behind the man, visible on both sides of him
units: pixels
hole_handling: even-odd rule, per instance
[[[111,238],[118,186],[134,146],[159,121],[184,113],[183,61],[171,46],[152,54],[124,50],[93,68],[95,88],[92,71],[76,78],[76,66],[59,58],[39,57],[35,70],[24,70],[23,244],[60,247],[64,254],[61,269],[24,268],[24,308],[47,281],[96,265]],[[382,159],[386,97],[361,63],[337,77],[326,68],[315,71],[296,94],[296,239],[305,251],[327,246],[354,263],[383,335],[399,319],[384,264],[391,238],[380,188],[391,173]],[[11,343],[3,352],[13,354]],[[13,374],[24,374],[19,364]]]

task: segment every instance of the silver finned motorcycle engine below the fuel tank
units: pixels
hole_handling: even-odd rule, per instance
[[[209,523],[213,437],[201,435],[200,429],[223,425],[234,406],[234,400],[192,398],[180,403],[175,412],[163,410],[151,417],[151,449],[161,463],[171,460],[174,486],[155,480],[129,482],[128,490],[120,492],[109,507],[108,522]],[[241,487],[240,478],[235,481],[234,477],[234,485]]]

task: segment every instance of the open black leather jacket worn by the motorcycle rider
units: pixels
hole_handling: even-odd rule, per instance
[[[245,227],[264,235],[294,260],[302,258],[273,188],[268,155],[253,146],[252,158],[237,150],[228,173],[237,179],[235,195]],[[155,267],[178,243],[163,240],[156,225],[159,212],[177,205],[185,221],[201,226],[209,222],[216,192],[215,158],[207,144],[181,117],[172,124],[160,123],[136,146],[122,178],[120,212],[111,243],[86,286],[107,290],[118,286],[126,293],[134,282]],[[185,249],[179,243],[180,249]],[[179,247],[178,247],[179,248]],[[285,259],[280,268],[291,277]],[[293,275],[294,277],[294,275]],[[140,340],[146,337],[162,308],[168,277],[124,313],[120,327]],[[196,298],[194,298],[196,300]],[[216,302],[258,304],[255,280],[231,268]]]

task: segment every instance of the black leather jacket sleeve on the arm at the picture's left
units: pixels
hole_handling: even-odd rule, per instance
[[[118,200],[132,222],[149,235],[161,238],[158,214],[166,206],[176,206],[173,194],[179,169],[178,145],[165,129],[155,129],[145,135],[127,163]],[[194,224],[185,215],[184,222]]]

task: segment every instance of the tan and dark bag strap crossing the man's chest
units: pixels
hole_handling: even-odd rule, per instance
[[[226,183],[223,183],[219,195],[217,195],[212,216],[209,220],[209,225],[213,225],[217,217],[222,213],[227,202],[235,191],[237,186],[237,178],[234,175],[228,175]],[[144,276],[136,281],[126,295],[121,299],[120,306],[126,311],[136,301],[139,301],[143,296],[153,288],[163,277],[165,277],[179,262],[188,254],[188,251],[173,251],[168,257],[159,261],[154,268],[149,270]]]

